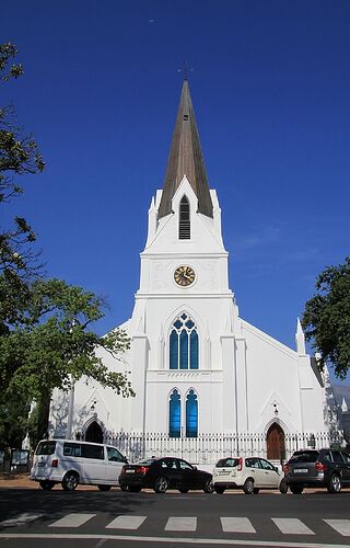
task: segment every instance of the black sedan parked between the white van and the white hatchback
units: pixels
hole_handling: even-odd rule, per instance
[[[122,491],[133,493],[144,488],[154,489],[156,493],[165,493],[167,489],[178,489],[180,493],[190,489],[213,492],[211,473],[197,470],[186,460],[175,457],[150,458],[126,465],[121,469],[119,484]]]

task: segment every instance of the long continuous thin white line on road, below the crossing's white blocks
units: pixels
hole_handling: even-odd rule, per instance
[[[127,541],[130,540],[132,543],[153,543],[153,544],[192,544],[192,545],[214,545],[214,546],[220,546],[220,545],[226,545],[226,546],[248,546],[249,548],[252,545],[254,546],[264,546],[264,547],[271,547],[271,548],[350,548],[350,545],[345,545],[345,544],[325,544],[325,543],[292,543],[292,541],[281,541],[281,540],[254,540],[252,543],[252,539],[249,540],[238,540],[238,539],[231,539],[231,538],[180,538],[180,537],[141,537],[138,535],[82,535],[82,534],[7,534],[7,533],[1,533],[0,538],[4,539],[13,539],[13,538],[19,538],[19,539],[52,539],[52,540],[98,540],[98,539],[105,539],[105,540],[117,540],[117,541]]]

